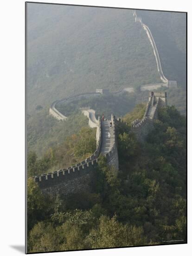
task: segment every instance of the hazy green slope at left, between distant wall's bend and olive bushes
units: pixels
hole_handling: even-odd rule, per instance
[[[67,136],[88,126],[88,118],[77,112],[66,121],[58,121],[49,115],[49,108],[43,108],[27,118],[26,126],[28,152],[42,156],[50,147],[60,145]]]

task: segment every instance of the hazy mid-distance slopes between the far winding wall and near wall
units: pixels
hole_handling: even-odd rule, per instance
[[[111,113],[117,118],[122,117],[132,111],[136,104],[144,104],[145,112],[147,101],[148,91],[99,95],[81,100],[77,98],[57,106],[61,113],[68,116],[66,121],[58,121],[50,116],[48,106],[45,108],[39,106],[33,115],[27,117],[28,151],[35,151],[38,156],[42,156],[46,150],[61,145],[68,136],[77,133],[82,127],[88,127],[88,118],[81,113],[80,108],[93,108],[96,110],[96,116],[104,114],[110,119]],[[167,101],[168,105],[175,105],[181,114],[186,115],[186,92],[182,88],[168,90]],[[141,112],[140,118],[144,112]],[[136,119],[137,114],[137,112],[132,114],[133,120]]]

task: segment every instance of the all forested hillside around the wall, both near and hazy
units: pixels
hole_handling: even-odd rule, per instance
[[[159,109],[145,141],[129,127],[119,131],[118,171],[100,155],[91,191],[54,197],[32,177],[95,151],[96,128],[81,108],[130,124],[148,102],[140,86],[160,76],[132,10],[27,4],[28,252],[186,243],[186,14],[136,12],[154,36],[165,76],[179,86],[158,89],[167,90],[169,106]],[[134,93],[59,103],[66,121],[49,115],[51,103],[69,94],[127,87]]]

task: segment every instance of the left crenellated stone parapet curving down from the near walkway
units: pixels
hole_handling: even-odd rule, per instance
[[[98,117],[96,133],[98,136],[96,150],[88,158],[69,168],[59,169],[51,173],[34,177],[34,181],[38,182],[39,187],[43,192],[67,195],[72,193],[72,191],[77,193],[78,191],[83,191],[84,189],[87,190],[89,188],[91,177],[97,166],[102,144],[102,126],[100,117]]]

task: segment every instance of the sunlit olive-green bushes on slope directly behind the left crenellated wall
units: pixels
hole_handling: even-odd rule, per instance
[[[41,175],[60,168],[68,168],[93,154],[96,150],[96,128],[83,127],[57,147],[50,147],[38,159],[34,151],[27,157],[29,176]]]

